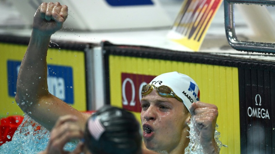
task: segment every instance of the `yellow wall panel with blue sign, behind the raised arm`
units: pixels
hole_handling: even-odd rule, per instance
[[[22,115],[14,96],[19,67],[27,45],[0,42],[0,117]],[[85,53],[49,48],[49,92],[79,111],[86,111]]]

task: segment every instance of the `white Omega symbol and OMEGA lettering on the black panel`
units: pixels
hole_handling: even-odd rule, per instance
[[[259,98],[259,101],[257,101]],[[257,106],[261,106],[262,105],[262,102],[261,102],[261,96],[259,94],[257,94],[255,96],[255,105]],[[263,108],[260,108],[260,107],[248,107],[247,108],[247,114],[249,117],[256,117],[256,118],[263,118],[263,119],[270,119],[269,117],[269,113],[268,113],[268,110],[266,109],[263,109]]]

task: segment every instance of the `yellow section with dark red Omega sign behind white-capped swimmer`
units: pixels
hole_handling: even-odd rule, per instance
[[[217,105],[221,153],[240,153],[238,68],[109,55],[110,104],[132,111],[140,121],[140,87],[153,77],[178,71],[193,78],[202,102]],[[234,147],[234,148],[233,148]]]

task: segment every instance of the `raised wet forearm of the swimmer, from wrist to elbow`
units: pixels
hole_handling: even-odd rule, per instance
[[[35,103],[38,97],[48,94],[47,88],[47,50],[49,35],[33,30],[28,49],[22,60],[17,79],[16,100]]]

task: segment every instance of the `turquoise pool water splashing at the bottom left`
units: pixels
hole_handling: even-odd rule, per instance
[[[40,130],[36,130],[40,127]],[[15,131],[12,141],[0,146],[0,154],[36,154],[47,147],[50,133],[41,125],[34,123],[28,115]],[[75,149],[77,142],[66,144],[68,151]]]

